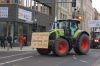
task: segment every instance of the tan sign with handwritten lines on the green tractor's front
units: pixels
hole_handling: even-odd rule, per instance
[[[32,48],[48,48],[49,32],[32,33],[31,47]]]

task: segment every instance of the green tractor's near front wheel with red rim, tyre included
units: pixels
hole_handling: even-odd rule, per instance
[[[67,55],[68,50],[69,50],[69,44],[67,40],[63,38],[55,40],[55,43],[53,45],[53,53],[56,56],[65,56]]]

